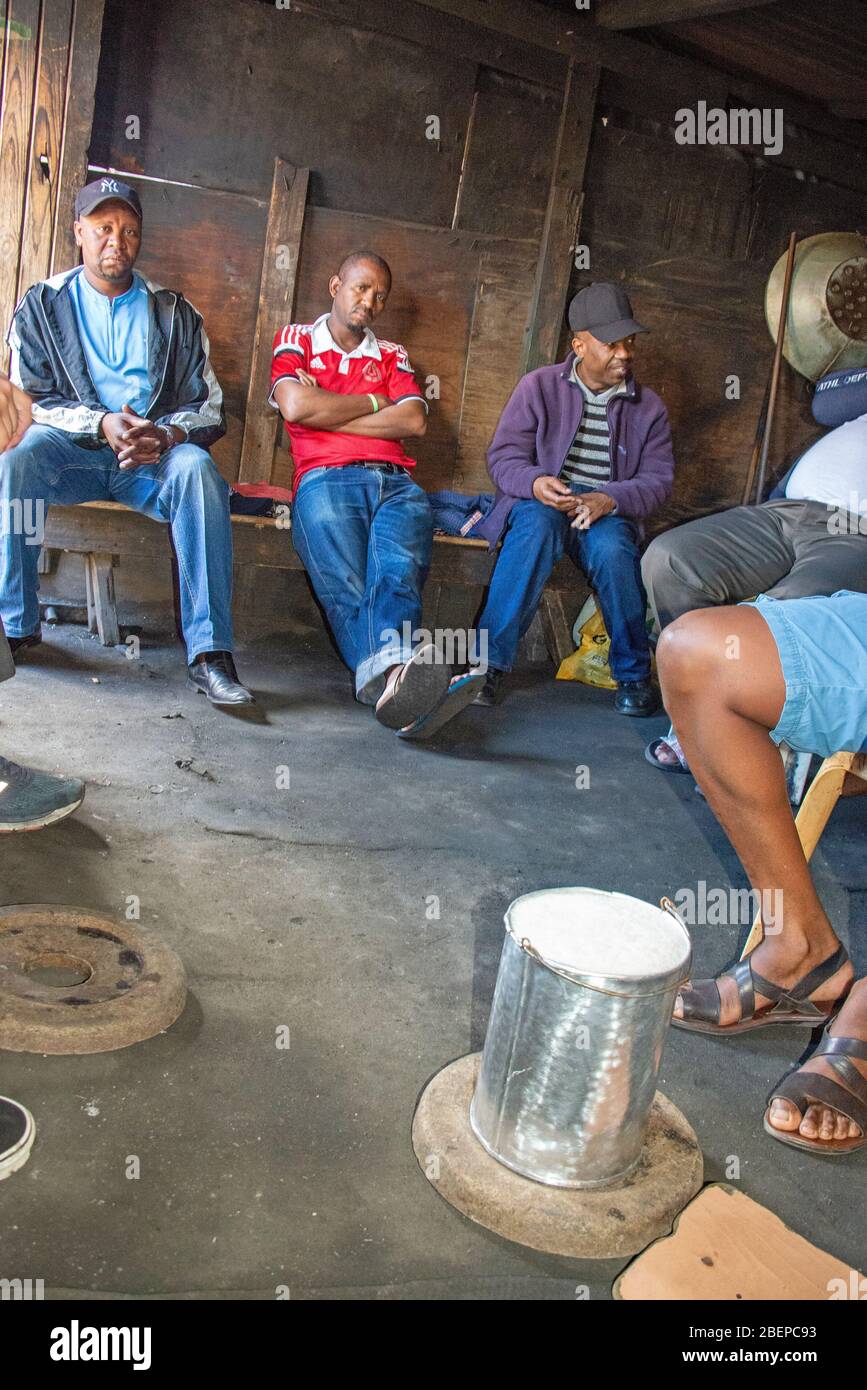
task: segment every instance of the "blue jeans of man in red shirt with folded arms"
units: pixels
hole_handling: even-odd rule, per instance
[[[406,473],[314,468],[299,485],[292,538],[356,696],[375,705],[385,671],[413,655],[434,542],[428,499]]]

